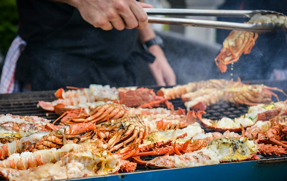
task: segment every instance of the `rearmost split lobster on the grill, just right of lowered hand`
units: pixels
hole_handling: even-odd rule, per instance
[[[189,92],[197,92],[197,94],[202,95],[204,92],[206,92],[203,89],[223,89],[224,87],[230,87],[235,85],[241,85],[240,80],[233,81],[233,80],[225,80],[225,79],[210,79],[207,81],[199,81],[199,82],[190,82],[188,84],[184,85],[177,85],[171,88],[164,88],[162,87],[157,94],[159,96],[163,96],[164,98],[168,99],[175,99],[175,98],[181,98],[183,94],[189,93]]]

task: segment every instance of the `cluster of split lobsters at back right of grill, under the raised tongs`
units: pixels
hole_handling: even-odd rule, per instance
[[[272,102],[272,96],[279,101],[278,91],[287,96],[283,90],[266,85],[249,85],[238,81],[224,79],[210,79],[207,81],[191,82],[177,85],[172,88],[161,88],[157,94],[164,98],[182,98],[187,110],[205,110],[207,106],[216,104],[220,100],[235,105],[246,104],[249,106],[260,103]]]

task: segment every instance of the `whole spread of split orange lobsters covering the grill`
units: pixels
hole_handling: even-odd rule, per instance
[[[97,95],[96,88],[108,93]],[[158,97],[136,87],[59,89],[57,104],[39,102],[61,114],[54,121],[59,125],[36,116],[0,115],[0,174],[8,180],[55,180],[134,172],[137,165],[177,168],[259,159],[258,154],[284,156],[287,105],[271,102],[272,90],[280,91],[217,79],[162,88]],[[200,109],[153,108],[170,106],[166,101],[172,98],[189,102],[214,92],[251,106],[245,115],[220,120],[202,118]],[[71,102],[76,97],[86,98]]]

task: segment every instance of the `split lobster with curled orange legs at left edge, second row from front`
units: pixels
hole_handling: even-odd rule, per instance
[[[23,151],[37,151],[51,148],[61,148],[71,140],[74,143],[81,143],[92,138],[95,134],[95,124],[84,123],[82,125],[62,126],[52,132],[37,132],[22,137],[11,143],[0,146],[0,159],[5,159],[13,153]]]

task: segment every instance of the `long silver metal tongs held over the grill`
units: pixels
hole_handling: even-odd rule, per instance
[[[236,18],[251,18],[255,14],[279,14],[275,11],[268,10],[209,10],[209,9],[156,9],[144,8],[148,15],[184,15],[184,16],[216,16],[216,17],[236,17]],[[197,26],[206,28],[218,28],[227,30],[242,30],[253,31],[257,33],[271,32],[278,29],[277,23],[235,23],[212,20],[195,20],[188,18],[172,18],[172,17],[157,17],[148,16],[150,23],[174,24],[182,26]]]

